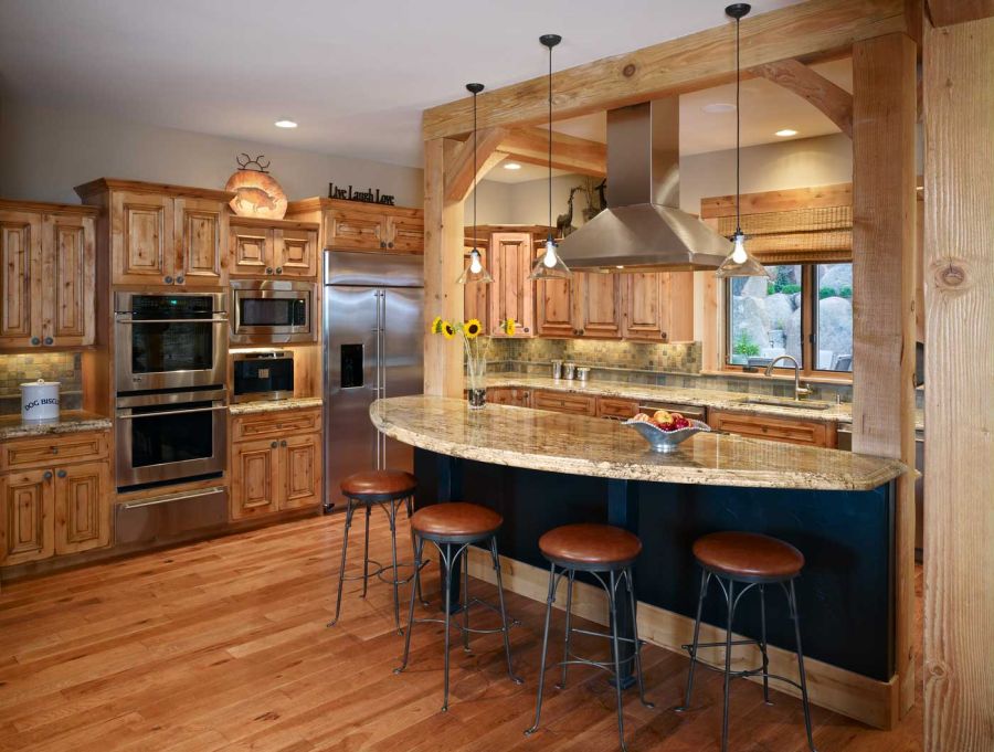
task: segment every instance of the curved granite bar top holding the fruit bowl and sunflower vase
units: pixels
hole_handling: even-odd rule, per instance
[[[658,454],[617,421],[497,404],[469,411],[463,400],[423,394],[377,400],[369,415],[388,436],[430,452],[601,478],[870,490],[906,470],[893,459],[730,434],[697,434]]]

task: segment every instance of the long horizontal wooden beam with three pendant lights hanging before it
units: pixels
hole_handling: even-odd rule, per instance
[[[716,15],[716,22],[723,19]],[[906,0],[808,0],[747,18],[741,24],[742,67],[786,59],[805,62],[847,51],[854,42],[908,30]],[[662,33],[662,32],[660,32]],[[708,88],[732,81],[734,25],[670,40],[553,74],[557,117],[574,117]],[[484,92],[480,127],[538,125],[548,117],[546,78]],[[463,138],[473,130],[464,97],[424,112],[424,138]]]

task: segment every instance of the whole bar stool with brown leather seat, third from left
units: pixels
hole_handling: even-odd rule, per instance
[[[563,657],[558,664],[562,666],[562,680],[557,685],[559,689],[565,688],[567,668],[570,665],[596,666],[614,676],[614,689],[617,696],[617,737],[622,750],[625,746],[625,721],[622,714],[622,681],[621,665],[627,660],[635,660],[636,676],[638,679],[638,696],[646,708],[653,708],[652,702],[645,699],[645,684],[642,678],[642,643],[638,642],[638,628],[635,619],[635,586],[632,579],[632,564],[642,552],[642,541],[627,530],[610,525],[564,525],[554,528],[539,538],[539,550],[549,560],[549,596],[546,601],[546,629],[542,635],[542,664],[539,669],[538,698],[535,706],[535,723],[525,734],[530,735],[539,728],[542,713],[542,687],[546,679],[546,655],[549,648],[549,624],[552,619],[552,604],[556,603],[556,589],[559,581],[565,575],[569,581],[567,590],[565,608],[565,636]],[[559,568],[560,571],[557,571]],[[591,632],[579,629],[571,625],[573,605],[573,580],[577,572],[589,572],[607,592],[607,610],[611,618],[611,633]],[[603,575],[607,575],[604,581]],[[617,634],[617,586],[625,581],[628,600],[632,607],[632,637],[618,637]],[[611,661],[596,661],[573,655],[570,648],[571,637],[574,632],[594,637],[611,639]],[[633,643],[635,648],[632,658],[621,659],[620,643]]]

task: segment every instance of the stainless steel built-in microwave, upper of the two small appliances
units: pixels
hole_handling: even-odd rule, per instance
[[[240,345],[314,342],[315,285],[305,282],[231,282],[231,341]]]

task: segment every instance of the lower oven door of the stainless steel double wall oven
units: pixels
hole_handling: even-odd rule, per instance
[[[117,399],[117,486],[220,475],[228,455],[223,389]]]

